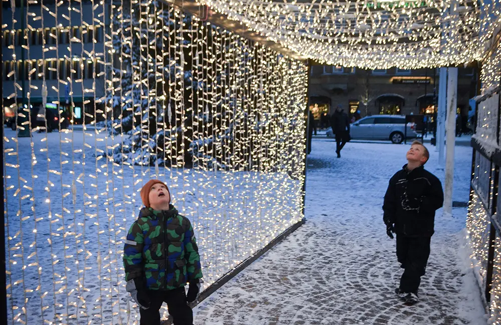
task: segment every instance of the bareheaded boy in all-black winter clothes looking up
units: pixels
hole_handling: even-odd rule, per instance
[[[435,210],[443,204],[440,180],[424,169],[429,156],[421,142],[412,142],[407,164],[391,177],[384,195],[386,233],[392,239],[396,233],[397,259],[404,269],[395,292],[407,304],[418,302],[417,290],[430,254]]]

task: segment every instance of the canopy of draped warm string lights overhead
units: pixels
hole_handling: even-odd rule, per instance
[[[480,58],[499,0],[202,0],[269,40],[322,64],[447,66]]]

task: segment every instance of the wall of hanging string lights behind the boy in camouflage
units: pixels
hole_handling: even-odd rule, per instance
[[[302,219],[302,62],[164,2],[30,0],[24,30],[11,5],[10,324],[138,323],[122,248],[150,178],[192,221],[204,288]]]

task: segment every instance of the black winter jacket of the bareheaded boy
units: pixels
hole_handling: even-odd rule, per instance
[[[405,236],[432,236],[435,211],[442,204],[440,180],[423,166],[409,172],[405,164],[390,178],[384,195],[383,221]]]

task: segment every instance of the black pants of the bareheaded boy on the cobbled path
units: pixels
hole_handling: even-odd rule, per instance
[[[404,269],[400,278],[401,292],[417,293],[430,255],[430,240],[431,237],[406,237],[397,234],[397,258]]]

